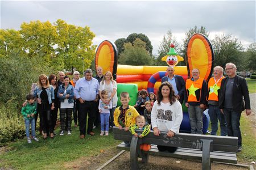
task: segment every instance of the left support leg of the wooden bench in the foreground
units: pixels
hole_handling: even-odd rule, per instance
[[[138,138],[131,139],[131,146],[130,146],[130,165],[132,170],[139,169],[138,164],[138,151],[139,151],[139,141]]]

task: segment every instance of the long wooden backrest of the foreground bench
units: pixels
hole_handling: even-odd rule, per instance
[[[142,133],[142,130],[136,130],[138,133]],[[117,127],[113,127],[114,139],[121,141],[131,141],[133,135],[130,131],[119,130]],[[225,151],[225,152],[237,152],[237,137],[222,137],[214,135],[199,135],[199,134],[187,134],[179,133],[175,134],[174,137],[167,137],[167,133],[162,132],[159,137],[150,133],[142,138],[141,143],[149,143],[151,145],[162,145],[162,146],[175,146],[184,148],[196,148],[200,149],[203,144],[201,139],[212,139],[212,148],[214,151]]]

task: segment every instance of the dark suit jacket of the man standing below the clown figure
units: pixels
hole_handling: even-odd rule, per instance
[[[182,76],[180,75],[174,75],[174,79],[175,79],[175,83],[176,83],[176,87],[177,87],[177,91],[179,92],[179,96],[180,96],[180,103],[183,103],[184,100],[184,91],[185,91],[185,81],[183,79]],[[168,75],[164,76],[161,80],[161,82],[168,82]]]

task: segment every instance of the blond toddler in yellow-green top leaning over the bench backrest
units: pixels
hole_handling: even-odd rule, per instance
[[[136,124],[134,126],[130,126],[129,131],[131,134],[133,134],[135,137],[138,137],[138,133],[135,132],[136,129],[143,130],[142,134],[139,135],[139,138],[143,138],[148,133],[150,133],[150,126],[146,125],[144,116],[137,116],[136,117]],[[148,151],[150,150],[150,145],[143,143],[140,146],[141,150]]]

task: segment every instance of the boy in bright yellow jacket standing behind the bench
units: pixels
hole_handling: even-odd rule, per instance
[[[125,128],[125,131],[129,130],[130,126],[135,124],[135,118],[139,116],[139,113],[134,107],[129,105],[129,93],[122,92],[120,94],[121,106],[115,109],[114,112],[114,124],[122,130]],[[125,144],[129,146],[129,142],[125,141]]]

